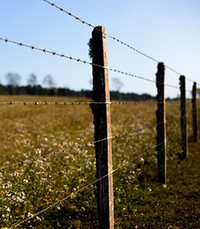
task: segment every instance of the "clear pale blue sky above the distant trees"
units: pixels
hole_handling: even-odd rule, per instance
[[[199,0],[54,0],[58,6],[200,83]],[[81,24],[42,0],[2,0],[0,37],[89,60],[92,28]],[[157,64],[107,38],[108,65],[121,71],[155,79]],[[18,73],[27,84],[31,73],[38,83],[50,74],[57,87],[91,89],[91,66],[0,41],[0,82],[8,72]],[[123,83],[121,91],[156,94],[153,83],[109,72]],[[179,76],[166,71],[166,83],[179,86]],[[192,88],[186,82],[188,90]],[[178,89],[166,87],[166,96]],[[188,94],[189,95],[189,94]]]

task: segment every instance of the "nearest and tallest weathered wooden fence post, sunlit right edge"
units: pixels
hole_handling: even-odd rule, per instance
[[[89,42],[90,56],[93,64],[107,67],[107,48],[105,28],[95,27]],[[95,144],[96,178],[102,178],[97,183],[97,205],[99,228],[114,228],[113,176],[112,173],[112,143],[110,92],[108,84],[108,69],[93,65],[93,101],[103,104],[91,106],[94,114],[95,141],[106,139]],[[109,174],[106,176],[106,174]]]

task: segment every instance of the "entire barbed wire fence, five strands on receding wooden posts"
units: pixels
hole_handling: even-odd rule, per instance
[[[122,44],[122,45],[124,45],[124,46],[126,46],[128,48],[130,48],[131,50],[139,53],[140,55],[142,55],[142,56],[144,56],[144,57],[156,62],[158,65],[161,64],[155,58],[145,54],[144,52],[141,52],[140,50],[138,50],[135,47],[127,44],[126,42],[123,42],[123,41],[119,40],[118,38],[107,34],[105,32],[105,30],[103,29],[103,27],[95,27],[94,25],[92,25],[92,24],[80,19],[79,17],[73,15],[72,13],[66,11],[65,9],[57,6],[56,4],[54,4],[54,3],[52,3],[52,2],[50,2],[48,0],[43,0],[43,1],[48,3],[48,4],[50,4],[52,7],[57,8],[61,12],[64,12],[64,13],[68,14],[69,16],[73,17],[74,19],[80,21],[82,24],[86,24],[87,26],[93,28],[93,32],[96,33],[97,36],[100,35],[102,44],[105,41],[105,37],[109,37],[109,38],[115,40],[116,42],[118,42],[118,43],[120,43],[120,44]],[[160,96],[160,98],[157,98],[156,102],[155,101],[151,101],[151,102],[125,102],[125,101],[123,102],[123,101],[120,101],[120,102],[118,102],[118,101],[110,101],[110,99],[109,99],[109,88],[108,88],[108,85],[107,85],[108,71],[113,71],[113,72],[119,73],[121,75],[130,76],[130,77],[133,77],[133,78],[137,78],[139,80],[144,80],[144,81],[147,81],[147,82],[150,82],[150,83],[154,83],[155,85],[157,85],[158,91],[160,91],[161,88],[165,88],[165,87],[171,87],[171,88],[180,90],[180,88],[178,86],[166,84],[164,82],[164,69],[163,69],[163,71],[160,71],[158,69],[158,72],[157,72],[157,74],[163,80],[163,82],[160,82],[158,79],[152,80],[152,79],[147,78],[147,77],[138,76],[138,75],[135,75],[135,74],[132,74],[132,73],[128,73],[128,72],[124,72],[124,71],[121,71],[121,70],[118,70],[118,69],[115,69],[115,68],[109,68],[107,66],[107,64],[106,64],[105,55],[104,55],[105,52],[106,52],[106,49],[105,49],[105,46],[102,45],[102,44],[100,44],[100,46],[102,45],[102,50],[100,50],[100,52],[98,52],[97,54],[98,55],[102,55],[103,60],[104,60],[103,63],[101,61],[97,60],[98,58],[95,59],[95,57],[93,57],[93,62],[89,62],[89,61],[86,61],[86,60],[81,60],[79,58],[74,58],[74,57],[68,56],[66,54],[60,54],[60,53],[49,51],[49,50],[46,50],[46,49],[43,49],[43,48],[38,48],[38,47],[35,47],[35,46],[32,46],[32,45],[28,45],[28,44],[24,44],[24,43],[21,43],[21,42],[9,40],[7,38],[0,37],[0,41],[4,41],[6,43],[12,43],[12,44],[15,44],[15,45],[19,45],[21,47],[26,47],[26,48],[29,48],[29,49],[32,49],[32,50],[36,50],[36,51],[40,51],[40,52],[43,52],[43,53],[51,54],[53,56],[58,56],[58,57],[61,57],[61,58],[66,58],[66,59],[69,59],[69,60],[72,60],[72,61],[76,61],[76,62],[80,62],[80,63],[83,63],[83,64],[90,65],[90,66],[93,67],[93,74],[94,74],[93,77],[94,78],[98,78],[98,81],[96,82],[96,86],[100,85],[99,82],[103,82],[103,90],[104,90],[104,93],[105,93],[105,94],[103,94],[102,92],[100,93],[99,91],[95,92],[95,86],[94,86],[94,93],[97,93],[97,94],[94,95],[93,101],[89,101],[89,102],[88,101],[85,101],[85,102],[76,102],[76,101],[75,102],[71,102],[71,101],[70,102],[59,102],[59,101],[58,102],[47,102],[47,101],[44,101],[44,102],[41,102],[41,101],[33,101],[33,102],[29,102],[29,101],[3,101],[3,102],[0,102],[0,105],[90,105],[91,108],[92,108],[92,112],[94,114],[94,119],[95,119],[95,122],[94,122],[95,123],[95,140],[94,141],[83,143],[83,144],[78,144],[78,145],[69,147],[67,149],[61,149],[59,151],[53,151],[53,152],[50,152],[48,154],[43,154],[43,155],[41,155],[39,157],[33,157],[31,159],[26,159],[26,160],[19,161],[19,162],[13,163],[13,164],[12,163],[9,163],[9,164],[5,163],[5,165],[0,167],[0,171],[6,170],[8,168],[9,169],[14,169],[17,166],[23,166],[23,165],[25,165],[27,163],[31,163],[31,162],[36,161],[36,160],[45,159],[45,158],[51,157],[53,155],[57,155],[57,154],[60,154],[60,153],[66,153],[66,152],[68,152],[70,150],[78,149],[78,148],[81,148],[81,147],[88,147],[88,146],[94,146],[97,155],[98,155],[98,153],[102,153],[102,152],[98,152],[98,150],[99,150],[98,147],[100,146],[101,150],[103,149],[104,154],[106,154],[106,156],[110,157],[110,159],[111,159],[111,157],[112,157],[111,140],[113,140],[115,138],[122,138],[122,137],[126,137],[126,136],[133,135],[133,134],[136,134],[136,133],[138,134],[138,133],[142,132],[144,129],[150,129],[150,128],[155,128],[155,127],[157,128],[158,132],[160,131],[163,134],[163,139],[161,141],[158,141],[158,138],[157,138],[156,146],[151,147],[149,150],[146,150],[145,152],[139,154],[139,156],[134,157],[129,162],[125,162],[125,163],[123,163],[122,165],[120,165],[119,167],[117,167],[115,169],[112,169],[112,160],[108,161],[107,165],[106,165],[106,170],[101,171],[101,172],[97,171],[97,179],[96,180],[94,180],[91,183],[88,183],[87,185],[85,185],[84,187],[82,187],[82,188],[78,189],[77,191],[71,193],[70,195],[67,195],[63,199],[59,199],[58,201],[56,201],[54,203],[50,203],[49,202],[48,203],[49,204],[48,207],[36,212],[35,214],[33,214],[30,217],[27,217],[27,218],[25,218],[23,220],[18,220],[18,222],[13,224],[11,226],[11,228],[16,228],[16,227],[18,227],[20,225],[23,225],[24,223],[30,221],[31,219],[37,217],[40,214],[46,212],[47,210],[49,210],[49,209],[61,204],[62,202],[64,202],[68,198],[71,198],[71,197],[75,196],[76,194],[78,194],[78,193],[80,193],[80,192],[82,192],[82,191],[84,191],[86,189],[92,188],[93,185],[95,185],[95,184],[97,184],[98,188],[101,185],[101,188],[103,187],[103,189],[107,189],[108,186],[109,186],[110,189],[112,189],[113,188],[113,183],[112,183],[112,174],[113,173],[119,171],[122,168],[127,167],[130,163],[136,162],[143,155],[148,154],[149,152],[151,152],[151,151],[153,151],[155,149],[158,151],[159,156],[160,156],[160,154],[162,154],[163,158],[166,157],[166,152],[165,152],[165,150],[163,151],[163,148],[166,148],[166,141],[167,141],[167,138],[166,138],[166,123],[167,123],[167,121],[166,121],[166,117],[165,117],[166,101],[165,101],[164,92],[161,92],[161,96]],[[97,41],[95,43],[97,43]],[[99,45],[99,44],[97,44],[97,45]],[[95,55],[95,53],[93,53],[93,54]],[[181,76],[181,74],[178,71],[176,71],[175,69],[171,68],[170,66],[165,65],[165,67],[168,68],[169,70],[173,71],[177,75]],[[97,72],[95,73],[95,71],[97,69],[98,69],[98,73],[100,73],[100,76],[98,76]],[[185,79],[188,80],[188,81],[193,82],[194,85],[196,85],[195,82],[192,79],[190,79],[188,77],[185,77]],[[94,84],[95,84],[95,82],[94,82]],[[199,85],[199,83],[197,83],[197,84]],[[190,90],[186,90],[185,88],[181,92],[185,93],[186,91],[191,92]],[[193,115],[193,129],[195,129],[196,126],[197,126],[197,112],[196,112],[196,108],[195,108],[196,90],[194,89],[194,91],[195,92],[193,93],[193,99],[192,99],[192,105],[194,107],[193,114],[192,114]],[[182,98],[181,97],[180,101],[182,103],[184,103],[183,106],[185,106],[186,98]],[[162,117],[161,117],[161,119],[157,119],[156,123],[145,125],[145,127],[142,127],[142,128],[133,129],[130,132],[125,132],[125,133],[121,133],[121,134],[118,134],[118,135],[111,136],[110,132],[109,132],[109,128],[111,128],[111,126],[110,126],[111,123],[109,123],[109,119],[110,119],[110,115],[111,115],[110,114],[110,106],[111,105],[131,105],[131,104],[132,105],[156,104],[158,106],[158,110],[161,109]],[[99,119],[99,115],[100,115],[99,113],[103,114],[103,116],[104,116],[103,123],[106,124],[105,125],[106,126],[105,129],[100,129],[100,132],[103,131],[103,135],[98,135],[97,134],[97,132],[99,131],[99,128],[102,126],[102,123],[99,123],[99,120],[98,120]],[[174,117],[174,119],[175,120],[179,119],[181,121],[184,120],[184,122],[186,124],[187,123],[186,122],[186,118],[188,118],[188,117],[190,117],[190,116],[188,114],[186,114],[186,107],[185,107],[185,113],[183,113],[181,115],[181,117],[178,117],[178,118]],[[157,115],[157,118],[158,118],[158,115]],[[161,120],[161,121],[159,121],[159,120]],[[161,130],[158,130],[159,128],[161,128]],[[196,128],[196,131],[197,131],[197,128]],[[183,125],[182,126],[181,133],[187,133],[187,125]],[[104,135],[106,137],[103,137]],[[183,139],[184,136],[182,135],[182,140],[184,142],[183,144],[185,144],[185,142],[187,141],[187,139]],[[185,138],[187,138],[187,135],[185,136]],[[168,138],[168,139],[170,139],[170,138]],[[104,157],[105,157],[105,155],[104,155]],[[162,158],[162,160],[165,160],[163,158]],[[102,162],[102,161],[98,162],[98,159],[97,159],[97,170],[98,170],[98,163],[104,163],[105,164],[105,162]],[[162,164],[162,166],[164,166],[164,170],[165,170],[165,166],[166,165]],[[166,173],[166,171],[164,171],[164,172],[162,171],[162,173]],[[163,176],[166,176],[166,174],[164,174]],[[165,183],[165,180],[166,180],[166,177],[164,179],[164,182],[161,181],[161,183]],[[99,193],[99,195],[102,196],[102,193]],[[103,193],[103,195],[105,195],[105,193]],[[112,209],[113,196],[110,193],[107,196],[108,196],[108,199],[106,200],[107,206],[104,206],[104,208],[107,208],[106,212],[109,212],[110,215],[109,216],[108,215],[103,215],[103,218],[104,219],[107,218],[108,222],[106,220],[102,220],[101,221],[101,218],[100,218],[99,224],[101,225],[102,228],[104,226],[105,226],[105,228],[107,228],[107,227],[113,228],[113,225],[114,225],[114,216],[113,216],[114,215],[113,214],[114,209]],[[99,201],[102,202],[102,199],[100,199]],[[104,201],[105,201],[105,199],[104,199]],[[98,203],[98,204],[100,205],[100,203]]]

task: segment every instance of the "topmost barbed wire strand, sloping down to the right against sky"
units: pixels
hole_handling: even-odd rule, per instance
[[[43,1],[46,2],[46,3],[48,3],[48,4],[50,4],[51,6],[53,6],[53,7],[55,7],[55,8],[57,8],[57,9],[60,10],[61,12],[64,12],[64,13],[68,14],[69,16],[73,17],[74,19],[80,21],[82,24],[88,25],[89,27],[91,27],[91,28],[93,28],[93,29],[99,30],[96,26],[94,26],[94,25],[92,25],[91,23],[88,23],[88,22],[86,22],[86,21],[80,19],[79,17],[73,15],[73,14],[70,13],[69,11],[63,9],[62,7],[59,7],[59,6],[56,5],[55,3],[52,3],[52,2],[50,2],[50,1],[48,1],[48,0],[43,0]],[[154,61],[154,62],[156,62],[156,63],[159,63],[159,62],[160,62],[160,61],[158,61],[157,59],[155,59],[154,57],[147,55],[146,53],[140,51],[139,49],[136,49],[135,47],[133,47],[133,46],[127,44],[126,42],[123,42],[123,41],[119,40],[118,38],[116,38],[116,37],[114,37],[114,36],[109,35],[108,33],[104,33],[104,35],[107,36],[107,37],[109,37],[109,38],[111,38],[111,39],[113,39],[113,40],[115,40],[115,41],[117,41],[118,43],[120,43],[120,44],[126,46],[127,48],[132,49],[133,51],[139,53],[140,55],[142,55],[142,56],[144,56],[144,57],[146,57],[146,58],[148,58],[148,59],[150,59],[150,60],[152,60],[152,61]],[[176,70],[173,69],[172,67],[170,67],[170,66],[168,66],[168,65],[165,65],[165,66],[166,66],[166,68],[168,68],[170,71],[174,72],[175,74],[177,74],[177,75],[179,75],[179,76],[182,75],[180,72],[176,71]],[[191,82],[193,82],[193,83],[195,82],[194,80],[190,79],[189,77],[185,77],[185,78],[186,78],[188,81],[191,81]],[[199,84],[199,85],[200,85],[200,84]]]

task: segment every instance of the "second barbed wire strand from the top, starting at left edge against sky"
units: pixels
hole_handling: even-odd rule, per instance
[[[6,43],[8,42],[8,43],[12,43],[12,44],[19,45],[19,46],[22,46],[22,47],[30,48],[32,50],[37,50],[37,51],[40,51],[40,52],[52,54],[53,56],[59,56],[59,57],[67,58],[69,60],[77,61],[77,62],[80,62],[80,63],[83,63],[83,64],[88,64],[88,65],[91,65],[91,66],[107,69],[108,71],[116,72],[116,73],[119,73],[121,75],[130,76],[130,77],[137,78],[137,79],[140,79],[140,80],[145,80],[145,81],[151,82],[151,83],[158,83],[158,82],[156,82],[156,80],[152,80],[152,79],[149,79],[149,78],[146,78],[146,77],[143,77],[143,76],[138,76],[138,75],[135,75],[135,74],[132,74],[132,73],[128,73],[128,72],[124,72],[124,71],[121,71],[121,70],[118,70],[118,69],[108,68],[108,67],[103,66],[103,65],[94,64],[94,63],[86,61],[86,60],[81,60],[79,58],[71,57],[71,56],[68,56],[68,55],[65,55],[65,54],[60,54],[60,53],[57,53],[57,52],[54,52],[54,51],[49,51],[47,49],[38,48],[38,47],[35,47],[33,45],[27,45],[27,44],[24,44],[24,43],[21,43],[21,42],[9,40],[7,38],[2,38],[2,37],[0,37],[0,40],[1,41],[5,41]],[[164,84],[164,85],[166,85],[167,87],[171,87],[171,88],[175,88],[175,89],[179,90],[179,87],[176,87],[174,85],[170,85],[170,84]],[[191,92],[190,90],[188,90],[188,91]]]

